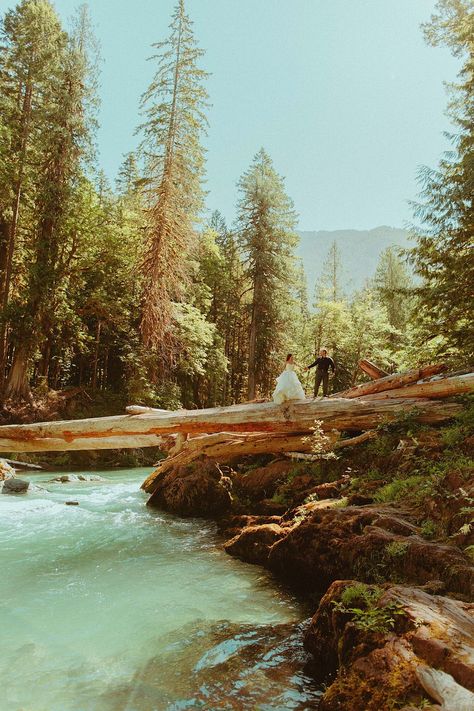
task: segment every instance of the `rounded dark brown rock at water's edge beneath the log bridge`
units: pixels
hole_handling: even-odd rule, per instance
[[[159,479],[148,505],[179,516],[222,516],[232,505],[231,488],[216,462],[205,459]]]

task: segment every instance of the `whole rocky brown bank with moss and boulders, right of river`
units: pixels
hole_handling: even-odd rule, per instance
[[[311,601],[321,711],[471,711],[473,420],[406,420],[333,459],[203,459],[150,503],[215,518],[230,555]]]

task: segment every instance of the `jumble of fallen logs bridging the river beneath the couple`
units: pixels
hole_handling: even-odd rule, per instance
[[[368,361],[361,361],[361,367],[374,378],[371,382],[323,400],[175,412],[132,405],[127,414],[114,417],[5,425],[0,427],[0,452],[160,447],[167,457],[143,484],[152,493],[164,473],[203,455],[228,461],[250,454],[304,454],[313,448],[315,422],[327,446],[351,446],[404,414],[427,424],[449,420],[462,407],[453,397],[474,391],[474,373],[446,374],[443,364],[393,375]],[[342,433],[353,436],[341,438]]]

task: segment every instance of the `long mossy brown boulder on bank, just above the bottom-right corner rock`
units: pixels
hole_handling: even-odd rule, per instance
[[[315,510],[271,548],[268,566],[305,591],[323,593],[334,580],[424,584],[472,596],[474,566],[454,546],[431,543],[389,507]]]

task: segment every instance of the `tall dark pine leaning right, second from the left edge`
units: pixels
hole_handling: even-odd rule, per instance
[[[89,146],[87,104],[93,103],[93,83],[88,82],[89,29],[82,9],[67,43],[63,34],[57,74],[50,77],[54,92],[44,108],[44,134],[34,178],[30,262],[25,298],[12,328],[15,353],[5,389],[7,397],[29,394],[29,367],[36,349],[48,341],[54,327],[58,299],[65,296],[63,282],[76,249],[69,216]]]

